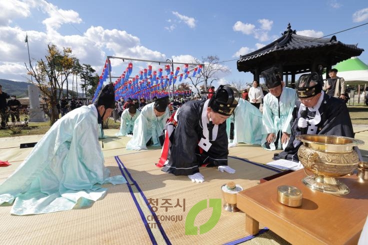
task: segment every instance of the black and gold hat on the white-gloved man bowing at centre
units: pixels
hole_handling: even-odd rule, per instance
[[[239,97],[239,91],[235,87],[220,85],[212,98],[210,98],[208,106],[222,115],[231,115],[236,108]]]

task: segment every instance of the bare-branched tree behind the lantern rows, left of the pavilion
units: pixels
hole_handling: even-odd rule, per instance
[[[201,83],[203,83],[202,85],[204,86],[204,90],[206,90],[212,85],[212,82],[230,72],[230,69],[227,66],[224,66],[219,62],[219,57],[217,55],[208,55],[207,57],[202,57],[201,62],[197,59],[194,59],[194,62],[198,64],[204,64],[199,75],[196,75],[195,77],[188,76],[191,84],[193,84],[198,94],[200,93],[198,87],[201,85]]]

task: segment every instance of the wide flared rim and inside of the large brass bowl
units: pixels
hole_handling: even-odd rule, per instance
[[[336,135],[302,134],[296,135],[296,139],[310,149],[328,152],[348,152],[353,146],[364,144],[360,139]]]

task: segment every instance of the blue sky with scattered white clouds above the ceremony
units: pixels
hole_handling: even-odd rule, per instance
[[[221,63],[231,72],[219,74],[218,83],[251,82],[236,59],[278,38],[287,23],[297,34],[320,37],[366,22],[366,0],[0,0],[0,78],[26,80],[27,32],[31,58],[43,58],[51,42],[71,47],[98,74],[106,55],[176,62],[217,55],[232,60]],[[336,37],[358,43],[368,63],[368,25]],[[132,74],[148,64],[137,63]],[[113,74],[126,65],[112,62]]]

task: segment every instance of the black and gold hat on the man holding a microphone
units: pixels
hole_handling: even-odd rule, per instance
[[[322,80],[317,72],[303,74],[297,80],[297,96],[299,98],[312,97],[322,91]]]

